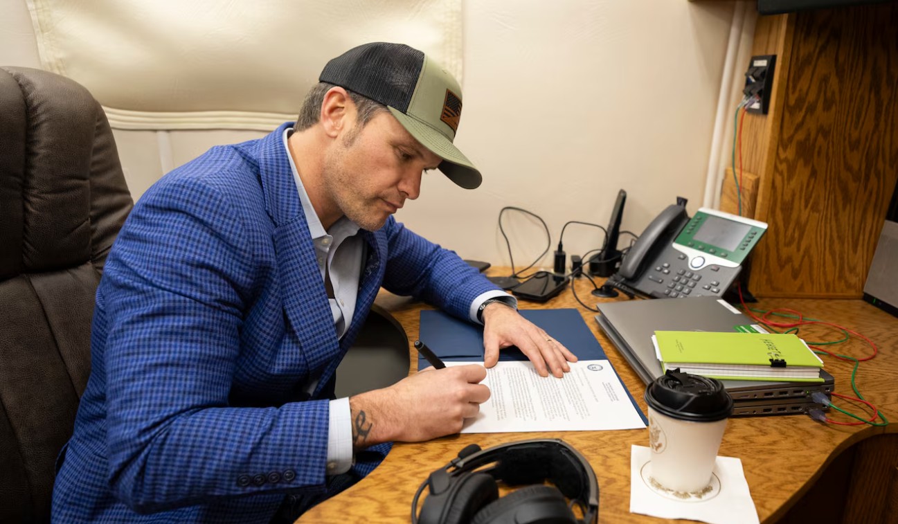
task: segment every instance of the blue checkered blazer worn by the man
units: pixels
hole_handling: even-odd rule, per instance
[[[324,475],[334,371],[380,287],[460,318],[496,289],[391,217],[362,233],[357,310],[339,340],[288,125],[173,170],[119,232],[54,521],[267,522],[286,494],[326,497],[339,489]],[[303,386],[316,377],[310,396]],[[388,450],[357,454],[352,475]]]

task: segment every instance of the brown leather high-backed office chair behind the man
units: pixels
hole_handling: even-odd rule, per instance
[[[91,369],[94,293],[131,206],[91,94],[0,67],[0,522],[49,520]]]

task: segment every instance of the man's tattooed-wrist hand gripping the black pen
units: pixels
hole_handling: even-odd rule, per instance
[[[480,413],[480,404],[489,398],[489,388],[480,384],[486,377],[479,364],[427,368],[389,388],[349,397],[353,449],[460,432],[464,419]]]

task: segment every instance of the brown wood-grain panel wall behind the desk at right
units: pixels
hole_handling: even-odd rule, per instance
[[[759,296],[858,298],[898,179],[898,4],[762,16],[777,55],[768,115],[744,119],[760,179]]]

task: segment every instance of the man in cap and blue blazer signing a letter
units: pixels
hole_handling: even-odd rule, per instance
[[[392,218],[423,170],[480,185],[452,144],[452,76],[416,49],[374,43],[331,60],[320,81],[295,128],[213,148],[128,217],[97,292],[55,520],[291,520],[369,473],[389,442],[458,432],[489,397],[480,365],[332,399],[382,285],[483,322],[488,366],[508,345],[544,376],[576,360]]]

